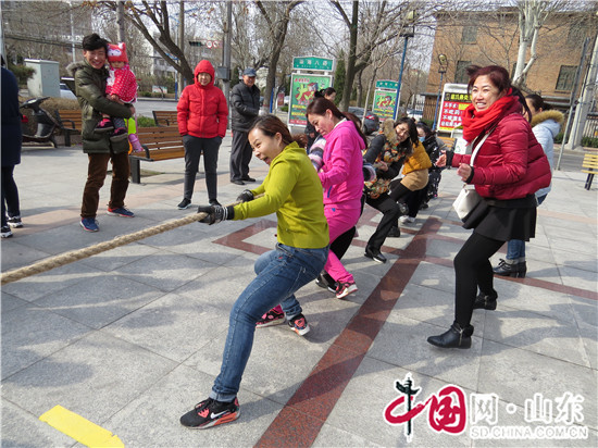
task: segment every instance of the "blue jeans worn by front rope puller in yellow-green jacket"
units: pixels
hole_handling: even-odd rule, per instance
[[[256,261],[258,276],[241,293],[231,311],[222,366],[210,398],[233,401],[253,346],[256,323],[278,303],[287,316],[301,312],[295,291],[315,279],[324,269],[328,248],[299,249],[276,245]]]

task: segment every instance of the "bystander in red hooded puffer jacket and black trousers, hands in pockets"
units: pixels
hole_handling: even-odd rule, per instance
[[[185,87],[176,105],[178,132],[185,145],[185,183],[179,210],[191,204],[199,158],[203,152],[205,187],[210,206],[217,201],[217,160],[226,134],[228,105],[221,89],[214,86],[214,67],[202,60],[195,71],[195,83]]]

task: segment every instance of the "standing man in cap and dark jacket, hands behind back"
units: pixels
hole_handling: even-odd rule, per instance
[[[251,161],[251,145],[247,139],[253,120],[260,113],[260,89],[256,87],[256,70],[245,69],[242,83],[237,84],[231,91],[233,113],[231,127],[233,129],[233,148],[231,149],[231,182],[245,185],[246,182],[256,182],[249,177],[249,162]]]

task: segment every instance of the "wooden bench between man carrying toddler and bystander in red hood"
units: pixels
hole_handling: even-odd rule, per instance
[[[128,155],[130,179],[135,184],[141,183],[141,161],[158,162],[185,157],[183,137],[178,134],[177,126],[138,127],[137,137],[139,137],[145,152],[132,152]]]

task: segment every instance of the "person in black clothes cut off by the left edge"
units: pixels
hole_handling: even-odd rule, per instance
[[[2,238],[12,236],[11,227],[23,227],[14,165],[21,163],[21,112],[16,77],[4,69],[2,58]],[[8,209],[8,216],[7,216]]]

